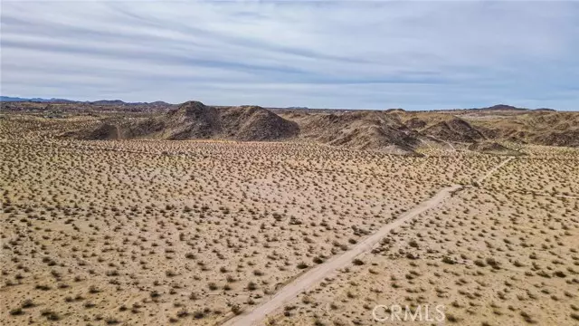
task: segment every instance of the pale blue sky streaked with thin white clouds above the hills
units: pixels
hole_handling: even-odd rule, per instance
[[[579,110],[579,2],[10,1],[5,96]]]

